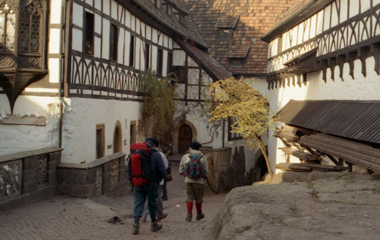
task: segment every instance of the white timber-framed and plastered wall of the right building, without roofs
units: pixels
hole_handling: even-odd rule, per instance
[[[344,63],[329,65],[335,58],[326,57],[327,68],[306,73],[281,77],[270,85],[269,101],[271,110],[277,112],[289,100],[380,100],[380,76],[375,71],[374,56],[357,46],[380,35],[380,24],[371,15],[370,9],[379,9],[379,0],[352,1],[337,0],[296,26],[289,26],[280,37],[269,44],[268,73],[286,69],[284,63],[317,49],[316,57],[344,55]],[[378,11],[378,10],[377,10]],[[358,20],[356,20],[357,18]],[[355,48],[357,55],[349,58],[348,48]],[[329,55],[330,54],[330,55]],[[338,54],[337,54],[338,55]],[[338,62],[338,57],[336,57]],[[286,156],[279,148],[283,142],[269,134],[269,158],[272,164],[286,162]],[[296,161],[292,158],[291,161]],[[298,159],[299,162],[299,159]]]

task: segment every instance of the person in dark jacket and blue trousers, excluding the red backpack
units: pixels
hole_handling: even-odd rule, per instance
[[[133,204],[133,234],[139,233],[139,222],[142,216],[146,199],[148,200],[149,215],[151,218],[151,231],[156,232],[162,229],[162,225],[157,223],[157,202],[158,186],[160,181],[166,176],[166,169],[162,160],[161,154],[157,151],[159,145],[156,138],[147,138],[145,142],[150,147],[149,165],[151,172],[151,182],[146,186],[134,186],[134,204]],[[128,168],[128,173],[131,175],[131,169]]]

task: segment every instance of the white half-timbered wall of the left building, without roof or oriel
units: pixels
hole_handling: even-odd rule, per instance
[[[211,131],[213,124],[203,115],[201,107],[212,78],[171,37],[139,19],[117,1],[75,0],[70,3],[72,6],[68,4],[66,8],[66,2],[53,1],[50,9],[47,78],[56,84],[55,87],[41,87],[39,82],[29,85],[24,90],[28,95],[18,97],[13,112],[20,119],[25,116],[32,120],[42,117],[46,124],[0,124],[0,155],[59,146],[64,149],[63,163],[89,163],[97,158],[99,127],[104,134],[103,156],[118,149],[116,138],[121,145],[118,151],[129,154],[131,129],[138,126],[140,118],[142,96],[139,94],[139,75],[147,68],[158,71],[159,51],[162,51],[163,76],[170,71],[167,64],[170,54],[172,65],[191,68],[188,83],[178,84],[177,89],[182,96],[179,106],[191,108],[186,119],[194,127],[196,135],[193,135],[193,140],[207,142],[209,147],[222,146],[222,129],[217,133]],[[71,12],[64,31],[62,19],[65,11]],[[89,52],[86,52],[85,45],[89,27],[87,15],[92,15],[94,21],[93,46]],[[110,48],[113,25],[118,29],[116,59],[111,59]],[[60,97],[62,82],[64,96]],[[34,93],[49,95],[37,96]],[[182,113],[183,108],[178,110]],[[5,94],[0,94],[0,113],[11,114]],[[117,137],[118,131],[120,136]]]

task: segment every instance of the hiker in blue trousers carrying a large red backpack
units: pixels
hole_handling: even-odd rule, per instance
[[[156,232],[162,228],[162,225],[157,223],[156,199],[158,197],[158,186],[166,176],[166,169],[161,154],[156,149],[158,145],[156,138],[147,138],[144,143],[131,145],[127,170],[134,190],[133,234],[139,233],[139,222],[146,199],[152,221],[150,230]]]

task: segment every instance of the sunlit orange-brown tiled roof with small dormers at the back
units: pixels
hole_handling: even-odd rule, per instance
[[[235,75],[266,74],[267,43],[260,40],[276,18],[298,0],[183,0],[197,25],[210,54]],[[234,27],[232,41],[219,41],[218,21],[239,19]],[[226,21],[228,22],[228,21]],[[231,21],[229,21],[231,24]],[[237,46],[242,46],[236,50]],[[229,56],[240,55],[250,46],[244,67],[229,67]],[[235,51],[229,53],[230,49]]]

